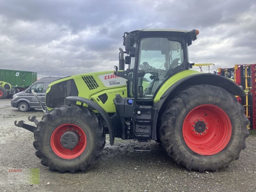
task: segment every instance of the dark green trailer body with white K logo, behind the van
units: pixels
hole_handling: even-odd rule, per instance
[[[13,87],[29,87],[36,82],[37,73],[0,69],[0,81],[8,82]]]

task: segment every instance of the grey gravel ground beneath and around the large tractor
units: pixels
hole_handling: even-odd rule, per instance
[[[177,165],[160,144],[150,152],[134,152],[132,140],[107,139],[98,163],[76,174],[49,171],[35,155],[33,134],[15,127],[15,120],[42,117],[40,110],[19,112],[10,99],[0,100],[0,191],[256,191],[256,134],[246,140],[237,161],[218,172],[194,172]],[[29,122],[31,123],[31,122]],[[40,169],[40,185],[8,182],[8,169]],[[50,182],[49,185],[47,183]]]

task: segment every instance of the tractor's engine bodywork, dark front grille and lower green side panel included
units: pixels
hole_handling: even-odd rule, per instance
[[[70,81],[70,79],[74,80],[72,87],[76,87],[76,92],[72,92],[71,85],[63,84],[66,81]],[[63,90],[65,90],[65,94],[61,94]],[[46,91],[46,106],[51,110],[51,108],[57,107],[56,105],[70,104],[70,102],[65,100],[67,96],[78,96],[93,100],[107,113],[115,113],[116,109],[113,99],[116,94],[127,97],[127,86],[126,79],[115,76],[113,71],[79,74],[52,82]],[[58,100],[58,103],[51,102],[51,98]],[[55,103],[55,105],[51,103]],[[81,103],[76,102],[72,104],[79,105]],[[86,104],[84,106],[87,107]]]

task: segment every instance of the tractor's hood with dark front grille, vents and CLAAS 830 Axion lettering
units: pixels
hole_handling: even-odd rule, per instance
[[[79,96],[97,102],[99,99],[94,100],[93,95],[113,88],[118,90],[119,87],[127,89],[126,79],[115,76],[113,71],[68,76],[58,79],[48,86],[45,103],[48,109],[60,105],[76,104],[66,100],[67,96]]]

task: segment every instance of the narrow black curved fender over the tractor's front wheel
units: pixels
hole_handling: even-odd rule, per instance
[[[106,124],[108,125],[110,145],[114,144],[115,137],[114,137],[114,131],[112,130],[113,126],[112,126],[110,117],[109,117],[108,113],[100,105],[93,102],[92,100],[89,100],[89,99],[86,99],[83,97],[78,97],[78,96],[68,96],[68,97],[66,97],[66,99],[85,103],[88,106],[92,107],[93,109],[97,110],[100,113],[100,115],[103,117],[103,119],[105,120]]]

